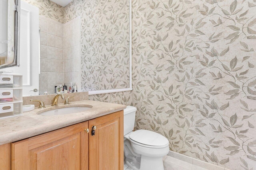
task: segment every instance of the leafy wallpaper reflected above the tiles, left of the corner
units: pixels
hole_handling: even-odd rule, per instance
[[[39,8],[39,15],[64,23],[64,7],[50,0],[22,0]]]

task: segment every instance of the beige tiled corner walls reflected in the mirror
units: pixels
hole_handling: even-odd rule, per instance
[[[60,23],[39,16],[39,94],[80,92],[80,17]]]

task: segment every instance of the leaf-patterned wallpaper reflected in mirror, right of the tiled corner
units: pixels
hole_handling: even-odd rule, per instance
[[[74,0],[65,22],[81,16],[81,90],[129,88],[129,0]]]

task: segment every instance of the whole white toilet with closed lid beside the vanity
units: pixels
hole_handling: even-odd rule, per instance
[[[136,107],[124,109],[124,161],[133,170],[164,170],[169,152],[166,137],[148,130],[133,131]]]

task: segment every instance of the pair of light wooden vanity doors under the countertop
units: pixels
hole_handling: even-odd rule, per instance
[[[123,170],[123,115],[118,111],[14,142],[11,169]]]

